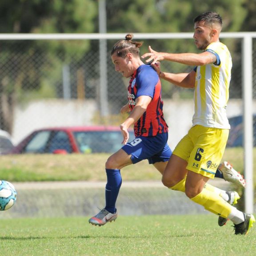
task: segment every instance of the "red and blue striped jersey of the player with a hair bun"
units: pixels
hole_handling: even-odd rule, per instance
[[[161,82],[156,71],[150,65],[141,65],[133,73],[128,86],[130,111],[135,107],[135,100],[140,96],[150,96],[147,110],[134,124],[135,136],[156,136],[168,132],[164,120],[163,100],[161,99]]]

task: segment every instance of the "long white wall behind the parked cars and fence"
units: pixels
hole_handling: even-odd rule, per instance
[[[242,100],[229,100],[228,117],[242,114]],[[256,101],[253,102],[256,112]],[[94,100],[36,100],[17,106],[12,139],[17,144],[37,128],[52,126],[92,125],[97,111]],[[172,150],[188,132],[194,114],[193,100],[164,100],[164,117],[169,126],[169,145]]]

